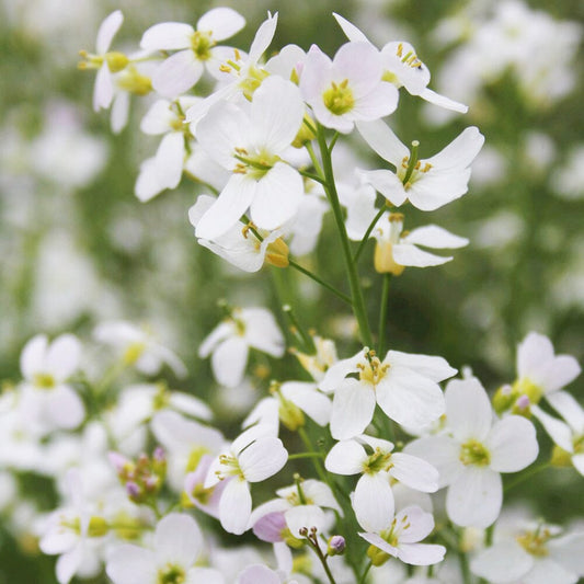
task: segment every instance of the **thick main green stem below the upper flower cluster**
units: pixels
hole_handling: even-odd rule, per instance
[[[324,179],[327,184],[324,190],[327,196],[331,203],[333,209],[334,220],[339,230],[339,237],[341,238],[341,248],[343,250],[343,256],[345,259],[345,266],[348,276],[348,284],[351,286],[351,298],[353,300],[353,313],[357,319],[359,325],[362,342],[366,346],[373,346],[371,331],[369,330],[369,322],[367,320],[367,312],[365,310],[365,301],[363,299],[363,291],[360,289],[359,277],[357,268],[353,262],[351,245],[348,243],[348,237],[346,234],[346,227],[343,217],[343,210],[341,209],[341,203],[339,201],[339,194],[334,184],[334,173],[332,168],[331,153],[327,146],[327,138],[324,137],[324,130],[322,126],[318,126],[317,138],[319,141],[320,156],[322,158],[322,168],[324,171]]]

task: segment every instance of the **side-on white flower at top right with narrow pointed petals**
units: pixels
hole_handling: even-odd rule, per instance
[[[333,12],[336,22],[350,41],[355,43],[369,43],[369,39],[354,24]],[[388,43],[381,49],[383,80],[393,83],[397,88],[404,87],[411,95],[420,95],[430,103],[466,114],[468,107],[432,91],[426,85],[430,82],[427,67],[417,58],[415,49],[410,43],[396,41]]]

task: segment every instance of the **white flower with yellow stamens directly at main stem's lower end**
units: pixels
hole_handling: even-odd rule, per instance
[[[358,374],[358,379],[347,377]],[[331,414],[333,438],[362,434],[373,419],[375,404],[405,426],[424,426],[444,412],[438,386],[456,374],[445,359],[389,351],[381,362],[368,350],[332,365],[319,387],[334,391]]]

